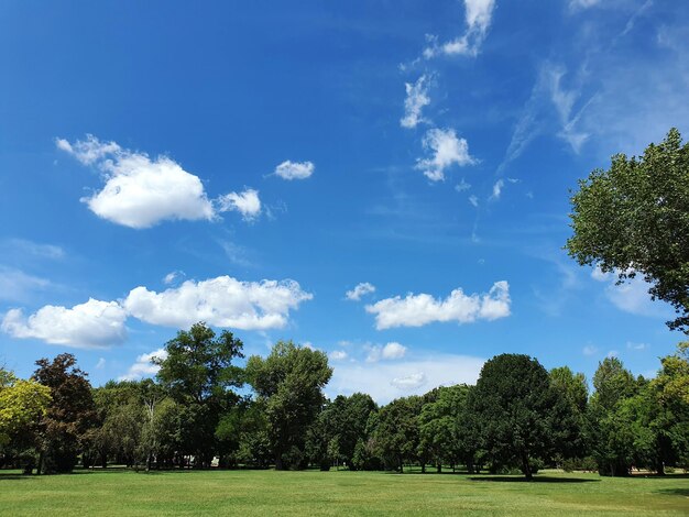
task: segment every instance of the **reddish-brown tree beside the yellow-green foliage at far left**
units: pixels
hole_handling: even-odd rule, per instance
[[[72,354],[59,354],[52,362],[41,359],[36,365],[34,378],[51,389],[52,397],[40,424],[39,471],[70,472],[97,419],[91,385]]]

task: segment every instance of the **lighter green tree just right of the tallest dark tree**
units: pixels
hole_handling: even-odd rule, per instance
[[[247,377],[265,404],[275,469],[302,468],[307,430],[326,400],[332,369],[324,352],[278,341],[263,359],[252,355]]]

